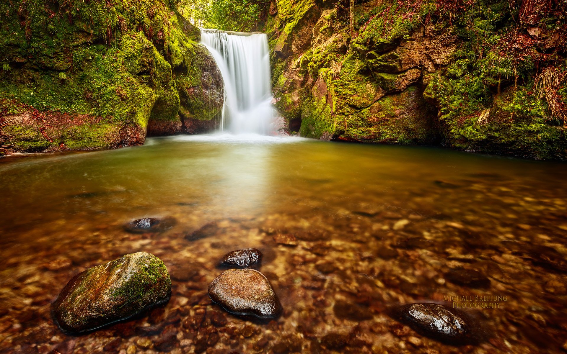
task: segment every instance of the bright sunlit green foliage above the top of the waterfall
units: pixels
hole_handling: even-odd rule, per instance
[[[256,31],[269,0],[181,0],[179,12],[198,27]]]

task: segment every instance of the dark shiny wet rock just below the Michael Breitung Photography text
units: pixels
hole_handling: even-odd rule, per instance
[[[454,309],[422,302],[401,306],[401,321],[430,338],[451,344],[467,344],[471,327]]]

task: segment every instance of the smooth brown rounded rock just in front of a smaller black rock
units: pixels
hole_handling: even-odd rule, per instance
[[[229,269],[209,284],[209,296],[230,313],[277,317],[282,310],[272,284],[259,271]]]

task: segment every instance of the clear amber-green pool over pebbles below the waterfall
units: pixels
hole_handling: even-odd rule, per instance
[[[561,352],[566,167],[259,135],[3,159],[0,352]],[[166,216],[177,224],[161,234],[123,228]],[[214,235],[185,238],[211,221]],[[277,233],[298,245],[278,245]],[[249,247],[263,251],[259,269],[284,306],[268,323],[227,314],[207,295],[222,255]],[[62,334],[49,304],[66,282],[136,251],[166,263],[171,301],[91,334]],[[480,271],[488,287],[455,283],[459,268]],[[448,346],[387,314],[457,295],[507,296],[499,308],[465,309],[487,333],[483,342]],[[353,307],[345,313],[344,304]],[[344,346],[329,349],[328,335]]]

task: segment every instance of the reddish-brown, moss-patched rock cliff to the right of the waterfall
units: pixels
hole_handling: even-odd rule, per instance
[[[567,5],[542,4],[274,0],[278,109],[304,137],[567,159]]]

